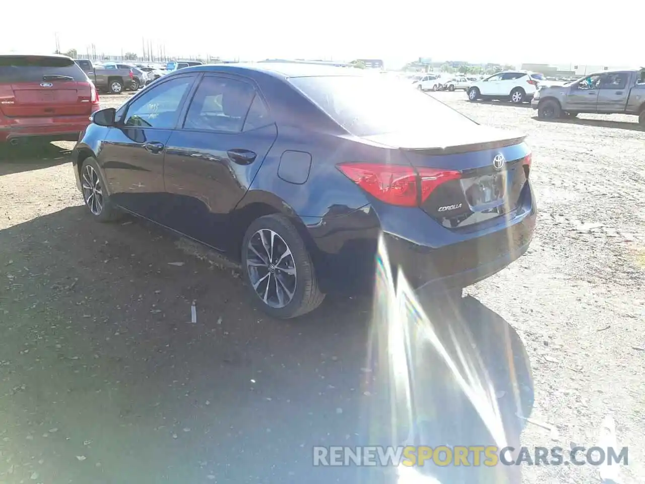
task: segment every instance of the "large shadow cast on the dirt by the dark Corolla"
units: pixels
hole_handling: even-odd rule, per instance
[[[132,219],[95,223],[83,207],[0,230],[0,438],[10,479],[326,484],[366,472],[389,481],[382,469],[312,464],[315,445],[378,445],[405,427],[392,418],[406,414],[395,392],[405,382],[387,365],[401,348],[377,337],[372,301],[330,297],[303,318],[273,320],[235,271],[176,241]],[[491,383],[519,438],[515,412],[530,414],[533,384],[517,332],[473,297],[422,304],[457,368],[483,362],[471,374]],[[386,327],[405,318],[395,319]],[[435,425],[426,443],[481,436],[436,348],[417,345],[414,359],[421,367],[404,379]]]

